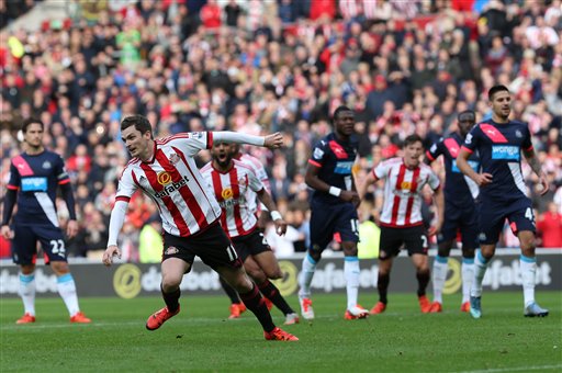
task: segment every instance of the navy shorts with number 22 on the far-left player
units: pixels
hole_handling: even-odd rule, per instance
[[[45,263],[67,261],[63,231],[53,225],[13,225],[12,259],[15,264],[35,264],[37,241],[41,242]]]

